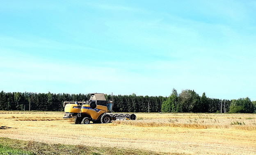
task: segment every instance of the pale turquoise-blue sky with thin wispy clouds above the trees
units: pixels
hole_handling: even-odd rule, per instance
[[[255,19],[255,0],[1,0],[0,89],[256,100]]]

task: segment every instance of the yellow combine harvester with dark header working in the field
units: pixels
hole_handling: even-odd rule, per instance
[[[135,120],[135,114],[112,114],[113,101],[107,101],[104,93],[92,93],[90,100],[84,102],[65,101],[64,119],[74,117],[75,124],[110,123],[116,119]]]

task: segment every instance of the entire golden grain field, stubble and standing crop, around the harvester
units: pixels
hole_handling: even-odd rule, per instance
[[[0,137],[184,154],[256,154],[255,114],[136,114],[74,124],[64,112],[0,112]]]

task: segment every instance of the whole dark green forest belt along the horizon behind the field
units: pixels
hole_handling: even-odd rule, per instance
[[[0,92],[0,110],[64,111],[64,101],[86,101],[91,94]],[[250,98],[220,100],[199,96],[194,90],[185,89],[177,93],[172,90],[169,97],[107,95],[113,98],[114,112],[192,112],[192,113],[256,113],[256,101]]]

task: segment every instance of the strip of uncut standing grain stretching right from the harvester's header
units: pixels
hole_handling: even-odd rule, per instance
[[[164,115],[164,114],[163,114]],[[188,115],[188,114],[187,114]],[[133,125],[148,127],[180,127],[191,129],[209,129],[209,128],[235,128],[240,130],[256,130],[256,121],[252,117],[237,115],[213,115],[213,116],[169,116],[169,118],[139,118],[135,121],[113,121],[114,125]],[[210,115],[210,114],[209,114]]]

